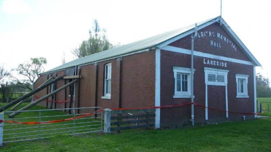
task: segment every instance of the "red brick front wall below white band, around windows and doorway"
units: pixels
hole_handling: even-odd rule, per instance
[[[181,104],[190,102],[190,98],[173,98],[174,95],[174,75],[173,66],[190,68],[190,55],[180,54],[171,51],[161,50],[161,105],[168,104]],[[208,58],[205,58],[207,60]],[[221,61],[221,60],[218,60]],[[227,62],[227,67],[217,67],[214,65],[203,64],[203,57],[194,57],[194,95],[195,102],[201,105],[205,105],[205,79],[204,79],[204,67],[218,68],[229,70],[228,73],[228,105],[229,111],[235,112],[254,112],[254,89],[253,89],[253,66],[245,64],[237,64],[233,62]],[[246,74],[248,77],[248,95],[249,98],[236,98],[236,78],[235,74]],[[219,88],[219,87],[218,87]],[[210,89],[210,88],[209,88]],[[214,89],[213,94],[220,93],[223,88]],[[224,95],[225,96],[225,95]],[[211,99],[211,98],[210,98]],[[218,98],[213,98],[212,102],[216,102]],[[225,105],[223,101],[220,104]],[[210,106],[213,106],[212,104]],[[174,109],[161,109],[161,126],[166,127],[169,125],[185,125],[190,123],[191,106],[180,107]],[[214,108],[221,108],[220,106]],[[224,109],[222,109],[224,110]],[[178,113],[176,115],[176,113]],[[223,112],[222,112],[223,113]],[[225,116],[225,113],[222,115]],[[229,120],[241,119],[242,115],[229,114]],[[253,118],[252,115],[246,116],[247,118]],[[212,116],[210,117],[212,118]],[[219,116],[220,118],[220,116]],[[219,119],[223,121],[222,119]],[[210,120],[209,121],[213,121]],[[195,122],[205,122],[205,109],[195,106]]]

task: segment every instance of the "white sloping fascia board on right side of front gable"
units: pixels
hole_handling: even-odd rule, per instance
[[[222,18],[221,18],[222,19]],[[248,50],[248,48],[244,45],[244,43],[239,39],[239,37],[233,32],[233,30],[229,27],[229,25],[222,19],[222,25],[225,27],[226,31],[233,36],[238,44],[243,48],[248,57],[254,62],[255,66],[261,67],[262,65],[259,61],[252,55],[252,53]]]

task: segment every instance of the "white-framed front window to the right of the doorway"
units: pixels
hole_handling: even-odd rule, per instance
[[[248,77],[249,75],[235,74],[236,78],[236,98],[248,98]]]

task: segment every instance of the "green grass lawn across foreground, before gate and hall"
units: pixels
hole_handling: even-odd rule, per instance
[[[39,107],[33,107],[33,109]],[[264,113],[271,116],[271,112]],[[1,151],[271,151],[271,118],[8,143]]]

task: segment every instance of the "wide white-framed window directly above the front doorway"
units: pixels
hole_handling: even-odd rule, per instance
[[[204,67],[204,72],[205,72],[205,83],[207,85],[222,85],[222,86],[227,85],[229,70]]]

